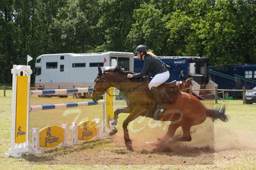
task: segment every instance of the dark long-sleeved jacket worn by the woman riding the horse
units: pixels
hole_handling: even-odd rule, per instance
[[[156,74],[164,73],[166,71],[168,71],[167,66],[162,60],[147,54],[144,58],[144,65],[141,73],[133,74],[132,78],[140,78],[148,73],[152,73],[155,76]]]

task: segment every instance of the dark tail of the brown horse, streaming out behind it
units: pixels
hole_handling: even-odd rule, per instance
[[[221,107],[215,108],[214,110],[207,109],[206,115],[207,117],[211,117],[212,121],[219,118],[222,122],[227,122],[229,117],[225,115],[225,111],[226,111],[226,106],[223,105]]]

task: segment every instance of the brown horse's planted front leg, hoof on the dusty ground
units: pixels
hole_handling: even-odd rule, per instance
[[[123,129],[124,129],[124,141],[125,141],[125,146],[127,148],[127,150],[133,151],[132,148],[132,141],[129,137],[129,132],[127,129],[127,126],[130,122],[132,122],[132,120],[134,120],[135,118],[138,118],[140,115],[145,114],[147,110],[140,108],[140,110],[136,109],[136,110],[132,110],[131,115],[129,115],[123,122]]]

